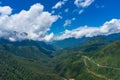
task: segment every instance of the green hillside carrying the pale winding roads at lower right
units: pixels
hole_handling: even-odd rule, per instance
[[[69,52],[72,52],[72,55],[57,59],[56,67],[54,68],[59,75],[66,79],[120,80],[119,40],[92,51],[92,55],[83,51],[75,54],[70,49]]]

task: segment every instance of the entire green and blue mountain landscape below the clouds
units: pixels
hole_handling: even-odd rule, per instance
[[[120,80],[120,34],[45,43],[0,39],[0,80]]]

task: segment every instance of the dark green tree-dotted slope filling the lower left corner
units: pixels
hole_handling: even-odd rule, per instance
[[[0,51],[0,80],[62,80],[43,64]]]

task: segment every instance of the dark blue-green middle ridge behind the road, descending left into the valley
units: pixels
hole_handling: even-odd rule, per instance
[[[67,58],[68,56],[81,54],[83,52],[91,55],[92,53],[95,53],[97,50],[108,45],[109,43],[111,42],[102,37],[95,37],[89,39],[88,41],[85,41],[79,46],[57,50],[53,52],[52,55],[54,56],[54,58]]]

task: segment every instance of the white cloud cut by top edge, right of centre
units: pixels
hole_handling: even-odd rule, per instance
[[[77,7],[85,8],[85,7],[90,6],[93,2],[94,0],[75,0],[74,4]]]

